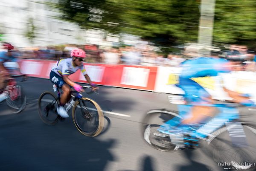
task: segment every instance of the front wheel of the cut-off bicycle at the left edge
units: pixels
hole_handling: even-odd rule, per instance
[[[26,107],[26,96],[20,85],[14,85],[7,93],[6,104],[13,113],[20,113]]]

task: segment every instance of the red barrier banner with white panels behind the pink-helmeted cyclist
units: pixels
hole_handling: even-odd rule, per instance
[[[32,77],[49,78],[55,63],[56,61],[21,59],[20,71]],[[95,84],[154,90],[157,67],[91,63],[84,63],[84,67]],[[75,82],[86,82],[81,72],[76,72],[69,78]]]

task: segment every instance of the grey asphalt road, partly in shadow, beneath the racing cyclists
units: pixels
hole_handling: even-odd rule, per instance
[[[99,87],[95,100],[106,116],[103,133],[82,135],[72,117],[54,126],[38,116],[38,97],[52,91],[47,79],[20,82],[27,106],[12,114],[0,103],[0,171],[222,171],[200,149],[162,152],[148,146],[140,125],[154,108],[177,110],[168,95],[116,87]],[[71,113],[69,113],[71,114]]]

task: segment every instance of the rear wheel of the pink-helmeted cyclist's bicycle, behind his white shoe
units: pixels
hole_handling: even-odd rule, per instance
[[[58,122],[57,108],[59,100],[52,92],[44,92],[38,99],[38,114],[47,125],[55,125]]]

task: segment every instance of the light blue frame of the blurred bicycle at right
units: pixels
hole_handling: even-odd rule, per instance
[[[202,139],[211,143],[211,141],[217,136],[213,134],[216,130],[220,129],[224,125],[227,127],[229,136],[232,139],[232,142],[236,146],[247,146],[247,141],[245,139],[245,133],[240,122],[235,121],[239,119],[239,112],[237,108],[231,107],[229,104],[210,104],[207,106],[217,107],[220,112],[217,116],[213,117],[209,122],[201,125],[198,129],[195,130],[195,137]],[[192,105],[179,104],[178,112],[179,116],[174,117],[173,119],[165,122],[161,127],[166,127],[166,125],[175,128],[183,118],[189,117],[190,108]],[[225,130],[224,130],[225,131]],[[224,132],[222,131],[222,132]],[[222,133],[218,131],[218,134]]]

